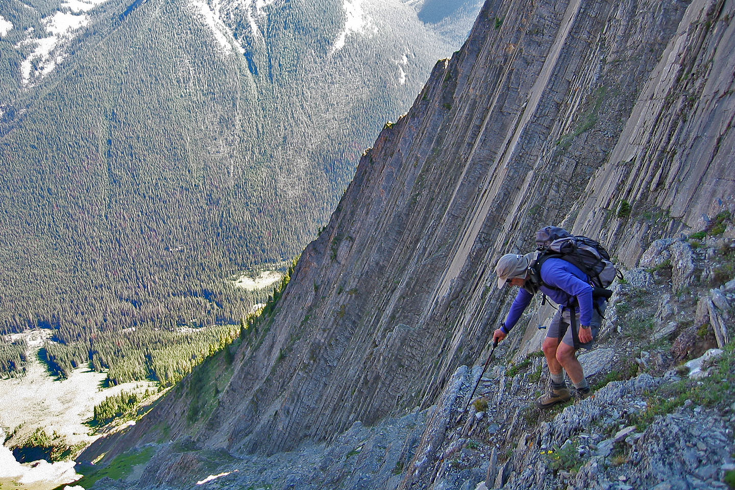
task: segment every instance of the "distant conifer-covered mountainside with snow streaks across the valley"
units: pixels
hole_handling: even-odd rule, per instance
[[[237,330],[478,8],[3,1],[0,333]]]

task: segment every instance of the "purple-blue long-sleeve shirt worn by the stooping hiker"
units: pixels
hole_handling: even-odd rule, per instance
[[[547,259],[541,265],[541,279],[543,284],[539,291],[547,295],[559,306],[569,308],[579,305],[579,321],[582,325],[589,325],[592,321],[592,286],[587,282],[587,274],[573,264],[563,259]],[[520,315],[531,303],[530,292],[521,288],[513,301],[508,316],[503,323],[503,331],[507,334],[518,322]]]

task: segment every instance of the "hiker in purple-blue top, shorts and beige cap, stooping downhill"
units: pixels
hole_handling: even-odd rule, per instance
[[[589,385],[575,354],[580,347],[589,348],[597,338],[606,302],[601,297],[593,298],[595,288],[589,284],[589,277],[574,264],[558,257],[538,262],[536,253],[508,253],[498,260],[495,266],[498,287],[512,284],[520,290],[505,322],[495,330],[492,338],[498,342],[505,339],[536,292],[542,292],[559,305],[543,343],[551,373],[551,393],[536,400],[537,407],[549,408],[571,398],[562,368],[567,371],[579,396],[589,396]]]

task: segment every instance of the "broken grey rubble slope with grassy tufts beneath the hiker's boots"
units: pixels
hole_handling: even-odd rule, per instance
[[[157,454],[126,480],[94,488],[726,489],[725,475],[735,475],[735,353],[728,345],[700,354],[720,345],[709,325],[730,324],[735,312],[735,281],[713,288],[720,280],[711,275],[732,263],[735,242],[702,245],[659,240],[643,262],[662,267],[625,272],[600,342],[579,358],[596,388],[587,400],[534,408],[547,383],[542,356],[519,356],[504,342],[468,412],[480,366],[459,367],[434,406],[371,427],[354,422],[329,443],[241,458],[191,438],[152,444]],[[678,249],[686,259],[667,263]],[[675,293],[674,277],[686,278],[686,294]],[[700,357],[677,366],[683,346]]]

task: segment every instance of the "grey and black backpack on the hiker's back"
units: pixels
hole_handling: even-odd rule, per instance
[[[536,232],[537,253],[534,268],[540,278],[541,265],[552,257],[574,264],[587,274],[592,286],[605,289],[616,275],[615,265],[600,242],[589,237],[573,235],[558,226],[545,226]],[[600,292],[601,293],[601,292]]]

